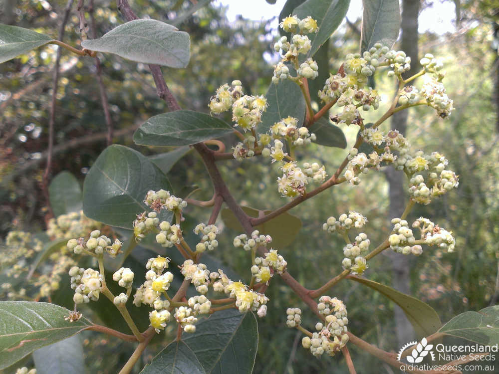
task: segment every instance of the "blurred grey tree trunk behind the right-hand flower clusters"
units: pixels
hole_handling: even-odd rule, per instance
[[[402,1],[402,38],[400,49],[411,57],[411,70],[404,74],[404,78],[410,77],[420,69],[418,58],[418,14],[419,0]],[[396,112],[392,118],[392,129],[399,130],[402,134],[407,132],[407,110]],[[404,174],[389,168],[386,171],[389,185],[389,219],[400,217],[407,202],[404,188]],[[410,294],[410,258],[398,253],[390,252],[392,260],[393,287],[405,294]],[[404,312],[395,306],[395,327],[399,346],[414,340],[415,334],[411,323]]]

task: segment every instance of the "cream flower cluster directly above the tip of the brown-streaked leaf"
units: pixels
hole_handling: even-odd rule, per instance
[[[73,266],[69,269],[71,289],[74,290],[75,304],[99,300],[102,275],[94,269],[83,269]]]

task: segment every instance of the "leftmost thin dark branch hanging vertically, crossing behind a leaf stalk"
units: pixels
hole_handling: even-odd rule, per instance
[[[73,0],[68,0],[66,8],[64,10],[64,15],[62,17],[61,24],[59,26],[58,39],[62,40],[64,37],[64,30],[66,27],[67,20],[69,18],[69,13],[71,12],[71,6],[73,5]],[[47,207],[50,215],[54,215],[52,212],[52,207],[49,203],[48,197],[48,177],[50,175],[50,169],[52,167],[52,151],[54,148],[54,124],[55,124],[55,104],[57,100],[57,86],[59,84],[59,66],[61,60],[62,51],[61,48],[57,48],[57,57],[55,58],[54,65],[54,75],[52,79],[52,99],[50,102],[50,117],[48,119],[48,154],[47,154],[47,165],[45,167],[45,172],[43,173],[43,183],[42,189],[45,196]]]

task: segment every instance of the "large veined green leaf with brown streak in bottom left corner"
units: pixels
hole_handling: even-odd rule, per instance
[[[65,321],[69,313],[54,304],[0,301],[0,369],[92,325],[84,317],[75,322]]]

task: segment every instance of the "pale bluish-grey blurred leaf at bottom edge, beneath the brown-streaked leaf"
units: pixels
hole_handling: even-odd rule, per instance
[[[33,352],[36,374],[85,374],[83,344],[78,335]]]

